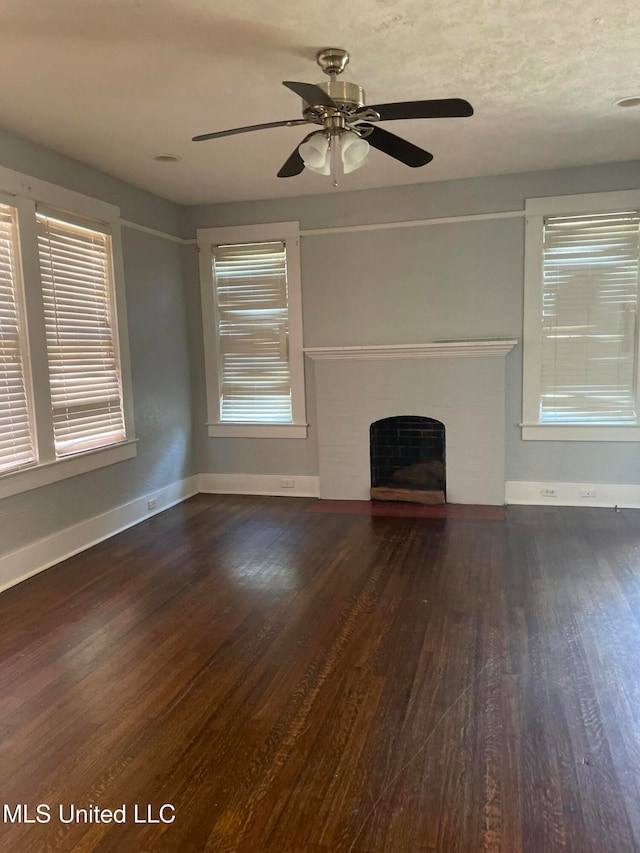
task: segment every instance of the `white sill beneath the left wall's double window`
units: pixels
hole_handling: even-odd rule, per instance
[[[130,439],[111,447],[87,450],[67,459],[57,459],[55,462],[34,465],[32,468],[4,474],[0,477],[0,498],[28,492],[30,489],[37,489],[58,480],[66,480],[67,477],[86,474],[97,468],[105,468],[107,465],[132,459],[137,453],[136,444],[136,439]]]

